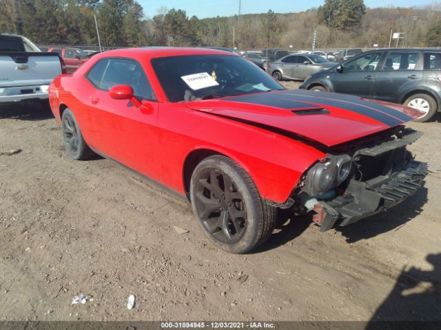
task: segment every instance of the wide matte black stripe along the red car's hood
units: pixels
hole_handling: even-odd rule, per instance
[[[245,96],[225,98],[225,100],[291,110],[305,109],[311,107],[313,104],[320,105],[321,107],[329,105],[331,107],[338,107],[347,111],[359,113],[360,115],[365,115],[366,117],[378,120],[388,126],[397,126],[413,119],[409,115],[401,113],[400,111],[384,107],[380,104],[363,101],[354,96],[339,95],[338,97],[341,97],[341,100],[337,100],[334,98],[318,96],[316,95],[318,94],[316,91],[299,91],[285,90],[279,92],[249,94]],[[316,100],[316,102],[314,102],[314,100]]]

